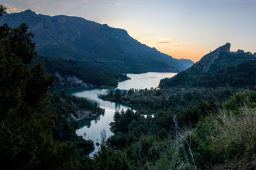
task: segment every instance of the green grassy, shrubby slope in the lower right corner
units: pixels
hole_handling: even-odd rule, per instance
[[[177,131],[156,167],[168,161],[168,169],[256,169],[255,94],[239,92],[195,129]]]

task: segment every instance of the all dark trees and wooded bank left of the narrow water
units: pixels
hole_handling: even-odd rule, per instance
[[[5,11],[0,6],[0,16]],[[3,169],[87,169],[92,141],[76,136],[70,111],[102,111],[86,99],[56,96],[54,77],[35,59],[28,26],[0,27],[0,158]],[[101,154],[106,152],[102,149]],[[100,155],[100,154],[99,154]],[[113,157],[118,157],[113,153]]]

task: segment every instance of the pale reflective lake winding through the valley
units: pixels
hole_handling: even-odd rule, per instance
[[[158,86],[159,81],[163,78],[170,78],[176,73],[143,73],[143,74],[127,74],[131,80],[122,81],[118,83],[118,89],[129,90],[130,88],[134,89],[150,89],[151,87],[155,88]],[[105,129],[107,138],[113,133],[110,131],[109,123],[113,122],[113,115],[116,110],[127,110],[129,106],[124,104],[117,104],[109,101],[102,101],[99,99],[100,95],[108,94],[110,89],[75,89],[67,90],[71,95],[77,97],[86,97],[89,101],[97,102],[100,108],[105,109],[104,115],[99,117],[94,117],[90,119],[79,120],[79,129],[76,133],[78,136],[83,136],[84,139],[92,139],[94,143],[100,143],[100,132]],[[99,146],[95,145],[95,150],[90,154],[93,156],[93,153],[98,152]]]

